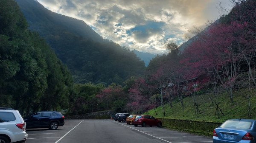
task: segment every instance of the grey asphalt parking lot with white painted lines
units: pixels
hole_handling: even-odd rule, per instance
[[[212,138],[113,120],[65,120],[57,130],[26,129],[26,143],[212,143]]]

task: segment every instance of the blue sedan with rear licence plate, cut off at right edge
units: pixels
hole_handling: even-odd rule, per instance
[[[256,143],[256,120],[227,120],[212,135],[213,143]]]

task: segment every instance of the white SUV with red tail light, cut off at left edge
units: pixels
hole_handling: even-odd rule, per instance
[[[23,143],[27,137],[26,123],[19,111],[0,108],[0,143]]]

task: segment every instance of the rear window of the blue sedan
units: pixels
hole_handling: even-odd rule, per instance
[[[250,121],[233,121],[228,120],[224,122],[220,127],[222,128],[234,128],[234,129],[250,129],[252,122]]]

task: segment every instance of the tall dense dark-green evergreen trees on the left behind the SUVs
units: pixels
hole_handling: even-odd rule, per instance
[[[70,71],[27,22],[14,0],[0,1],[0,107],[21,114],[74,102]]]

